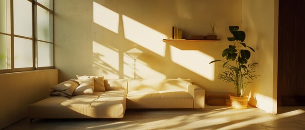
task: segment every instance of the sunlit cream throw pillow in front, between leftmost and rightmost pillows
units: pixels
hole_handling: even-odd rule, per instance
[[[80,85],[76,88],[73,95],[93,94],[94,91],[94,78],[88,76],[76,76]]]

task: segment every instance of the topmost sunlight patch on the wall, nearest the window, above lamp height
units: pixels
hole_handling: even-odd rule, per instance
[[[114,33],[118,33],[119,15],[96,2],[93,2],[93,21]]]

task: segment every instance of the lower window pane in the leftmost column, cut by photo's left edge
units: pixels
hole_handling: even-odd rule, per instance
[[[0,34],[0,69],[11,69],[11,36]]]

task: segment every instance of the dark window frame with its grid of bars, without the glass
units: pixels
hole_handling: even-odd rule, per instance
[[[1,33],[3,35],[8,35],[11,38],[11,68],[10,69],[1,69],[0,73],[11,73],[11,72],[20,72],[20,71],[29,71],[29,70],[41,70],[41,69],[52,69],[55,68],[55,54],[54,54],[54,49],[55,49],[55,44],[54,44],[54,0],[52,0],[52,9],[49,9],[45,7],[44,5],[40,4],[37,0],[28,0],[29,2],[32,3],[32,38],[31,37],[26,37],[26,36],[21,36],[21,35],[16,35],[14,34],[14,0],[10,0],[10,24],[11,24],[11,33]],[[45,9],[48,11],[50,14],[52,14],[52,41],[53,42],[48,42],[48,41],[43,41],[43,40],[38,40],[38,23],[37,23],[37,6]],[[51,28],[50,28],[51,29]],[[32,67],[24,67],[24,68],[15,68],[15,63],[14,63],[14,37],[19,37],[19,38],[24,38],[24,39],[29,39],[33,41],[33,66]],[[52,66],[43,66],[43,67],[38,67],[38,41],[39,42],[44,42],[44,43],[49,43],[53,44],[53,65]]]

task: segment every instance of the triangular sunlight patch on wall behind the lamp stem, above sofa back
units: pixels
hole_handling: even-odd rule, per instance
[[[124,78],[133,79],[134,73],[133,59],[124,54]],[[137,59],[135,63],[135,73],[138,79],[166,79],[166,76],[152,69],[145,62]]]

